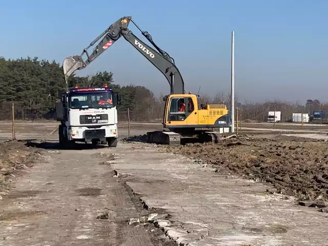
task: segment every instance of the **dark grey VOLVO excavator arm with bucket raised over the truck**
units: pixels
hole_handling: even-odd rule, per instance
[[[142,42],[137,36],[135,36],[130,29],[128,29],[129,23],[132,22],[144,35],[149,42],[155,47],[151,48],[149,45]],[[132,20],[131,16],[122,17],[117,22],[113,23],[103,33],[101,33],[93,42],[84,49],[80,56],[70,56],[64,60],[63,70],[65,81],[67,83],[68,77],[76,70],[81,70],[87,67],[96,57],[108,49],[114,44],[121,36],[123,36],[129,44],[131,44],[136,50],[144,55],[168,80],[171,94],[185,94],[185,85],[183,83],[182,76],[174,64],[174,59],[165,51],[161,50],[154,42],[151,35],[142,31]],[[88,49],[93,46],[101,37],[101,41],[94,48],[91,55],[88,54]],[[86,54],[87,59],[84,60],[82,56]]]

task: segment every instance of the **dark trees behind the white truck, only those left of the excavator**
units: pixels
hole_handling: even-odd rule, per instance
[[[94,76],[72,75],[69,87],[103,86],[107,83],[120,93],[122,105],[119,111],[129,108],[134,115],[144,115],[144,120],[160,117],[161,101],[142,86],[119,86],[113,81],[113,73],[97,72]],[[0,57],[0,119],[11,115],[12,103],[15,115],[20,118],[54,118],[55,103],[66,91],[63,69],[55,61],[34,58],[5,59]]]

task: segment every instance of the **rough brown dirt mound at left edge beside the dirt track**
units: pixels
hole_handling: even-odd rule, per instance
[[[8,177],[14,177],[19,170],[33,166],[41,156],[25,144],[24,141],[0,143],[0,190],[4,188],[4,181]]]

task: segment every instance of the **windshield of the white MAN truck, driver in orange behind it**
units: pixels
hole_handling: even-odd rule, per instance
[[[74,92],[69,97],[71,109],[112,108],[114,107],[113,91],[106,92]]]

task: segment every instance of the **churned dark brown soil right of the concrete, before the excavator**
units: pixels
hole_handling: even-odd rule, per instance
[[[236,173],[272,183],[285,195],[304,200],[323,194],[328,200],[328,144],[324,141],[238,138],[223,146],[189,144],[165,149],[202,159],[220,174]]]

